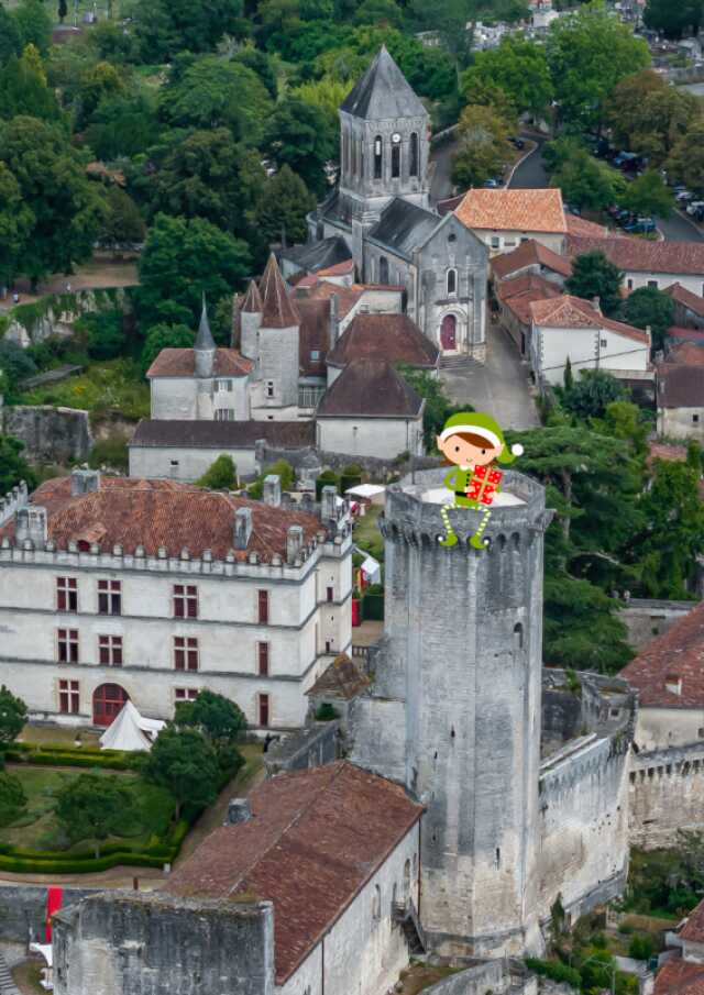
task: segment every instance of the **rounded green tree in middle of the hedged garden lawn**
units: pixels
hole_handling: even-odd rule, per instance
[[[119,777],[81,774],[56,792],[54,815],[68,839],[77,843],[91,840],[96,858],[110,836],[134,810],[134,796]]]

